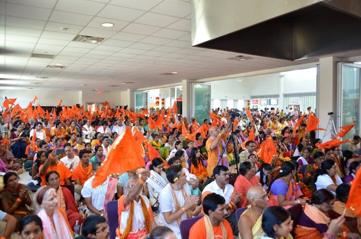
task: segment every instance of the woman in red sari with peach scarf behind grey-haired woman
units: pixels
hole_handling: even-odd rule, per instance
[[[61,207],[68,218],[70,227],[74,229],[76,221],[79,224],[84,222],[84,217],[78,212],[78,207],[74,199],[74,195],[66,187],[60,186],[59,173],[50,171],[45,175],[46,184],[55,189],[57,194],[58,206]]]

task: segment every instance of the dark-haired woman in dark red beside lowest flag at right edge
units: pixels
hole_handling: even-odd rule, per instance
[[[349,183],[342,183],[336,188],[336,201],[333,208],[328,212],[331,219],[337,218],[343,214],[348,200],[349,190],[351,185]],[[355,233],[361,233],[361,217],[354,214],[352,210],[346,209],[344,225]]]

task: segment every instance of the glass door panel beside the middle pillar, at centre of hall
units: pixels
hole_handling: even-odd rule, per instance
[[[206,83],[191,83],[191,116],[202,125],[203,120],[210,120],[208,111],[211,110],[211,85]],[[191,120],[189,121],[191,124]]]

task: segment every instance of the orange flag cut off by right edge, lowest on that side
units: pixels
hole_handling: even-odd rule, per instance
[[[346,208],[350,209],[357,216],[361,216],[361,206],[359,204],[360,200],[361,200],[361,170],[357,170],[357,173],[352,181],[346,203]]]

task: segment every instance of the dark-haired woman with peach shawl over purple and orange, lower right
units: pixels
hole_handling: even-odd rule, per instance
[[[313,193],[312,199],[307,201],[304,211],[298,220],[294,230],[295,239],[314,238],[321,239],[326,233],[330,218],[328,212],[335,203],[333,194],[326,190],[320,189]],[[343,230],[349,231],[343,226]],[[359,238],[356,233],[345,232],[343,237]]]

